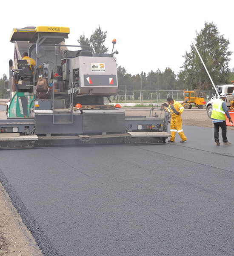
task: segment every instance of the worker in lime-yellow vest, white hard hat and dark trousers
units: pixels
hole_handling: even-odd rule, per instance
[[[231,143],[228,142],[228,138],[227,138],[227,126],[226,126],[225,114],[230,122],[232,122],[232,120],[228,112],[227,104],[225,102],[226,97],[227,96],[225,93],[221,93],[220,98],[216,99],[213,103],[211,118],[212,118],[212,122],[214,123],[214,142],[216,146],[220,145],[220,141],[219,141],[220,128],[222,130],[223,145],[231,146]]]

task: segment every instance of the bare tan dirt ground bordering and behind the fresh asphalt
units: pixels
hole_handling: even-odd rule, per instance
[[[126,116],[149,116],[150,108],[125,108]],[[160,111],[156,111],[160,116]],[[154,114],[153,114],[154,115]],[[5,111],[0,111],[0,119],[5,119]],[[211,119],[204,109],[185,109],[183,125],[213,128]],[[228,127],[228,130],[234,127]],[[24,226],[20,215],[11,204],[5,189],[0,184],[0,256],[42,255],[30,232]]]

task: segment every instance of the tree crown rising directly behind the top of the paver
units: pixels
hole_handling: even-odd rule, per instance
[[[83,35],[80,35],[80,39],[77,41],[80,45],[91,46],[95,53],[106,53],[108,52],[108,48],[104,44],[106,41],[106,33],[106,31],[102,31],[102,28],[99,25],[98,28],[92,33],[90,38],[86,38],[85,34],[83,33]]]

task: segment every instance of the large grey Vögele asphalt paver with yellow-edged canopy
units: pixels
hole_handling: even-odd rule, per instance
[[[160,115],[126,117],[119,105],[111,105],[118,88],[117,51],[98,54],[91,47],[67,46],[69,32],[51,26],[13,29],[12,96],[8,117],[0,120],[0,148],[165,143],[169,113],[159,109]],[[34,68],[21,59],[25,50],[35,59]]]

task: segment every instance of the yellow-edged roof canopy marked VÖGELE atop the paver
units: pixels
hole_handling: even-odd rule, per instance
[[[13,29],[10,37],[10,41],[28,41],[35,44],[37,39],[45,36],[44,44],[59,44],[65,38],[68,38],[70,29],[67,27],[56,26],[38,26],[38,27],[26,27],[23,29]]]

